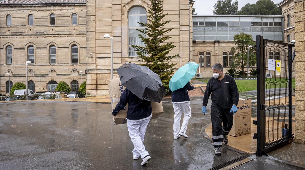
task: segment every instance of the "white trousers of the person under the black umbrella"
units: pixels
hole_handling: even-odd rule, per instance
[[[134,157],[139,157],[141,155],[141,158],[143,159],[145,156],[148,155],[148,152],[145,150],[143,141],[149,120],[150,118],[136,122],[131,122],[127,120],[127,129],[129,132],[129,136],[135,146],[135,149],[132,151]]]

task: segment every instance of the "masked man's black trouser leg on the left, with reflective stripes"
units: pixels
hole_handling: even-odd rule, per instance
[[[212,120],[212,132],[213,132],[213,144],[214,147],[222,146],[222,114],[221,109],[218,106],[211,105],[211,120]]]

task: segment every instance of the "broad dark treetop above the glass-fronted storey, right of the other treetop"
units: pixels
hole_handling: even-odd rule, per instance
[[[258,0],[255,4],[247,3],[238,11],[241,15],[282,15],[281,7],[270,0]]]

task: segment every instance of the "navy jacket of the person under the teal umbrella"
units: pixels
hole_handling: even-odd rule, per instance
[[[169,92],[172,93],[172,102],[189,102],[190,98],[188,97],[188,90],[193,90],[194,87],[190,82],[186,83],[183,88],[179,88],[172,92],[169,89]]]

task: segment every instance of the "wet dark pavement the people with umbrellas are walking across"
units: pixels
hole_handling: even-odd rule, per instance
[[[191,99],[188,138],[173,139],[170,101],[150,121],[144,145],[152,159],[145,167],[142,160],[133,160],[126,124],[113,125],[110,104],[0,103],[0,169],[208,169],[239,157],[224,147],[222,156],[214,154],[212,143],[200,134],[211,123],[210,116],[201,113],[202,97]],[[272,161],[264,164],[289,169]],[[261,169],[261,162],[255,159],[244,166]]]

